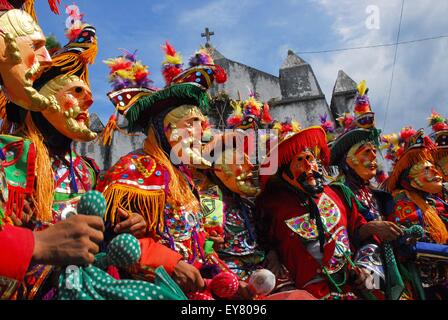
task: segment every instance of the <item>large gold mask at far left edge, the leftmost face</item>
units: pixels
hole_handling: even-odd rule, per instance
[[[51,65],[40,27],[22,10],[10,10],[0,17],[0,29],[0,74],[6,96],[31,111],[55,110],[52,101],[32,87]]]

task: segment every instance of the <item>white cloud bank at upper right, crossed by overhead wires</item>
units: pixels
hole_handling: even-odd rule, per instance
[[[340,37],[342,47],[391,43],[396,39],[401,1],[328,1],[314,0],[333,18],[332,29]],[[380,29],[365,27],[368,5],[380,9]],[[447,30],[447,1],[405,2],[400,40],[411,40],[443,33]],[[446,31],[445,31],[446,32]],[[446,74],[446,40],[401,45],[398,49],[395,77],[387,118],[387,131],[397,131],[405,125],[426,127],[426,118],[433,107],[448,115],[448,85]],[[305,55],[321,86],[331,97],[335,75],[343,69],[355,81],[366,79],[378,125],[382,127],[389,90],[394,47]]]

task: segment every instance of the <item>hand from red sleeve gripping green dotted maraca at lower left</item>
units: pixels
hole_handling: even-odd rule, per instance
[[[32,261],[49,265],[84,265],[95,260],[104,235],[103,219],[75,215],[34,232]]]

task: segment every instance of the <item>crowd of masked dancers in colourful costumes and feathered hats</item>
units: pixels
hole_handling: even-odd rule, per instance
[[[65,11],[60,46],[33,1],[0,1],[0,299],[448,298],[443,115],[384,134],[362,81],[334,122],[273,119],[251,93],[211,131],[225,71],[210,48],[183,63],[166,42],[162,89],[135,53],[104,61],[113,115],[97,135],[96,29]],[[116,131],[145,139],[110,168],[73,147]]]

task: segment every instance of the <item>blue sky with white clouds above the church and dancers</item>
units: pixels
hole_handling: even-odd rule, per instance
[[[65,6],[51,13],[36,1],[39,24],[65,44]],[[227,58],[278,76],[292,49],[310,63],[330,103],[339,70],[353,80],[366,80],[377,127],[397,132],[408,125],[430,132],[434,109],[448,117],[448,38],[398,46],[390,104],[386,110],[395,47],[323,54],[300,52],[389,44],[396,41],[402,0],[77,0],[85,22],[97,29],[99,53],[90,67],[95,103],[91,112],[105,123],[113,113],[106,94],[108,69],[103,60],[119,48],[138,49],[157,87],[165,40],[184,61],[205,43],[201,32],[215,32],[212,44]],[[128,4],[128,5],[127,5]],[[399,41],[448,35],[447,0],[405,0]],[[387,114],[387,116],[386,116]],[[300,119],[298,119],[300,121]]]

